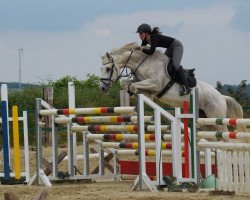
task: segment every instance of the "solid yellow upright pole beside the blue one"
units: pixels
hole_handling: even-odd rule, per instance
[[[19,126],[18,126],[18,108],[17,108],[17,106],[12,106],[12,120],[13,120],[15,179],[21,179],[20,148],[19,148]]]

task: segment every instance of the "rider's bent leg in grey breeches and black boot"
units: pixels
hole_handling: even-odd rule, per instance
[[[184,69],[180,65],[182,55],[183,55],[183,45],[178,40],[174,40],[172,45],[173,45],[173,65],[179,76],[179,80],[182,84],[180,86],[179,93],[181,96],[183,96],[185,94],[189,94],[191,91],[191,89],[188,87],[188,84],[187,84],[187,77],[185,75]]]

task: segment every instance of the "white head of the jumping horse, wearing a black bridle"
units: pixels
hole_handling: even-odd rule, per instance
[[[107,92],[120,75],[120,68],[115,65],[114,57],[108,52],[102,56],[101,73],[100,89]]]

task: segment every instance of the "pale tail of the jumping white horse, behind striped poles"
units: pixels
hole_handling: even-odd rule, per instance
[[[227,117],[228,118],[243,118],[243,109],[241,105],[232,97],[225,96],[224,98],[227,103]],[[245,125],[237,125],[237,131],[246,132]]]

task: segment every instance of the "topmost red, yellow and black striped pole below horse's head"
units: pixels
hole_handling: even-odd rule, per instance
[[[40,110],[40,115],[70,115],[70,114],[104,114],[104,113],[117,113],[117,114],[130,114],[136,113],[136,107],[96,107],[96,108],[66,108],[66,109],[50,109]]]

